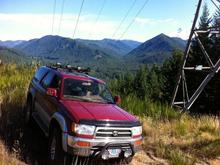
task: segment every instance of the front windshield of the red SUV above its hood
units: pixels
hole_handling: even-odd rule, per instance
[[[64,80],[63,96],[83,101],[113,103],[113,98],[105,84],[67,78]]]

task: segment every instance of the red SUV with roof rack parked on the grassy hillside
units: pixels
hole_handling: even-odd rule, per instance
[[[142,126],[116,104],[102,80],[71,66],[42,66],[27,94],[26,122],[49,137],[49,164],[80,157],[131,161],[141,148]]]

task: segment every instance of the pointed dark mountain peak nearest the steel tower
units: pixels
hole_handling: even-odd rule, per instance
[[[129,62],[161,64],[174,50],[183,51],[186,41],[181,38],[160,34],[129,52],[125,59]]]

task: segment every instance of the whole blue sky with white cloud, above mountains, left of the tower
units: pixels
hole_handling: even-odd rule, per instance
[[[56,0],[52,31],[54,0],[0,0],[0,40],[29,40],[51,34],[72,38],[82,0],[64,0],[61,17],[62,3],[63,0]],[[74,38],[143,42],[165,33],[187,39],[198,0],[149,0],[135,18],[145,3],[145,0],[136,0],[120,29],[113,35],[133,3],[134,0],[84,0]]]

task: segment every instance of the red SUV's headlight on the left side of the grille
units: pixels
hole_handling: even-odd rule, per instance
[[[79,135],[93,135],[95,132],[95,126],[84,125],[84,124],[74,124],[73,131]]]

